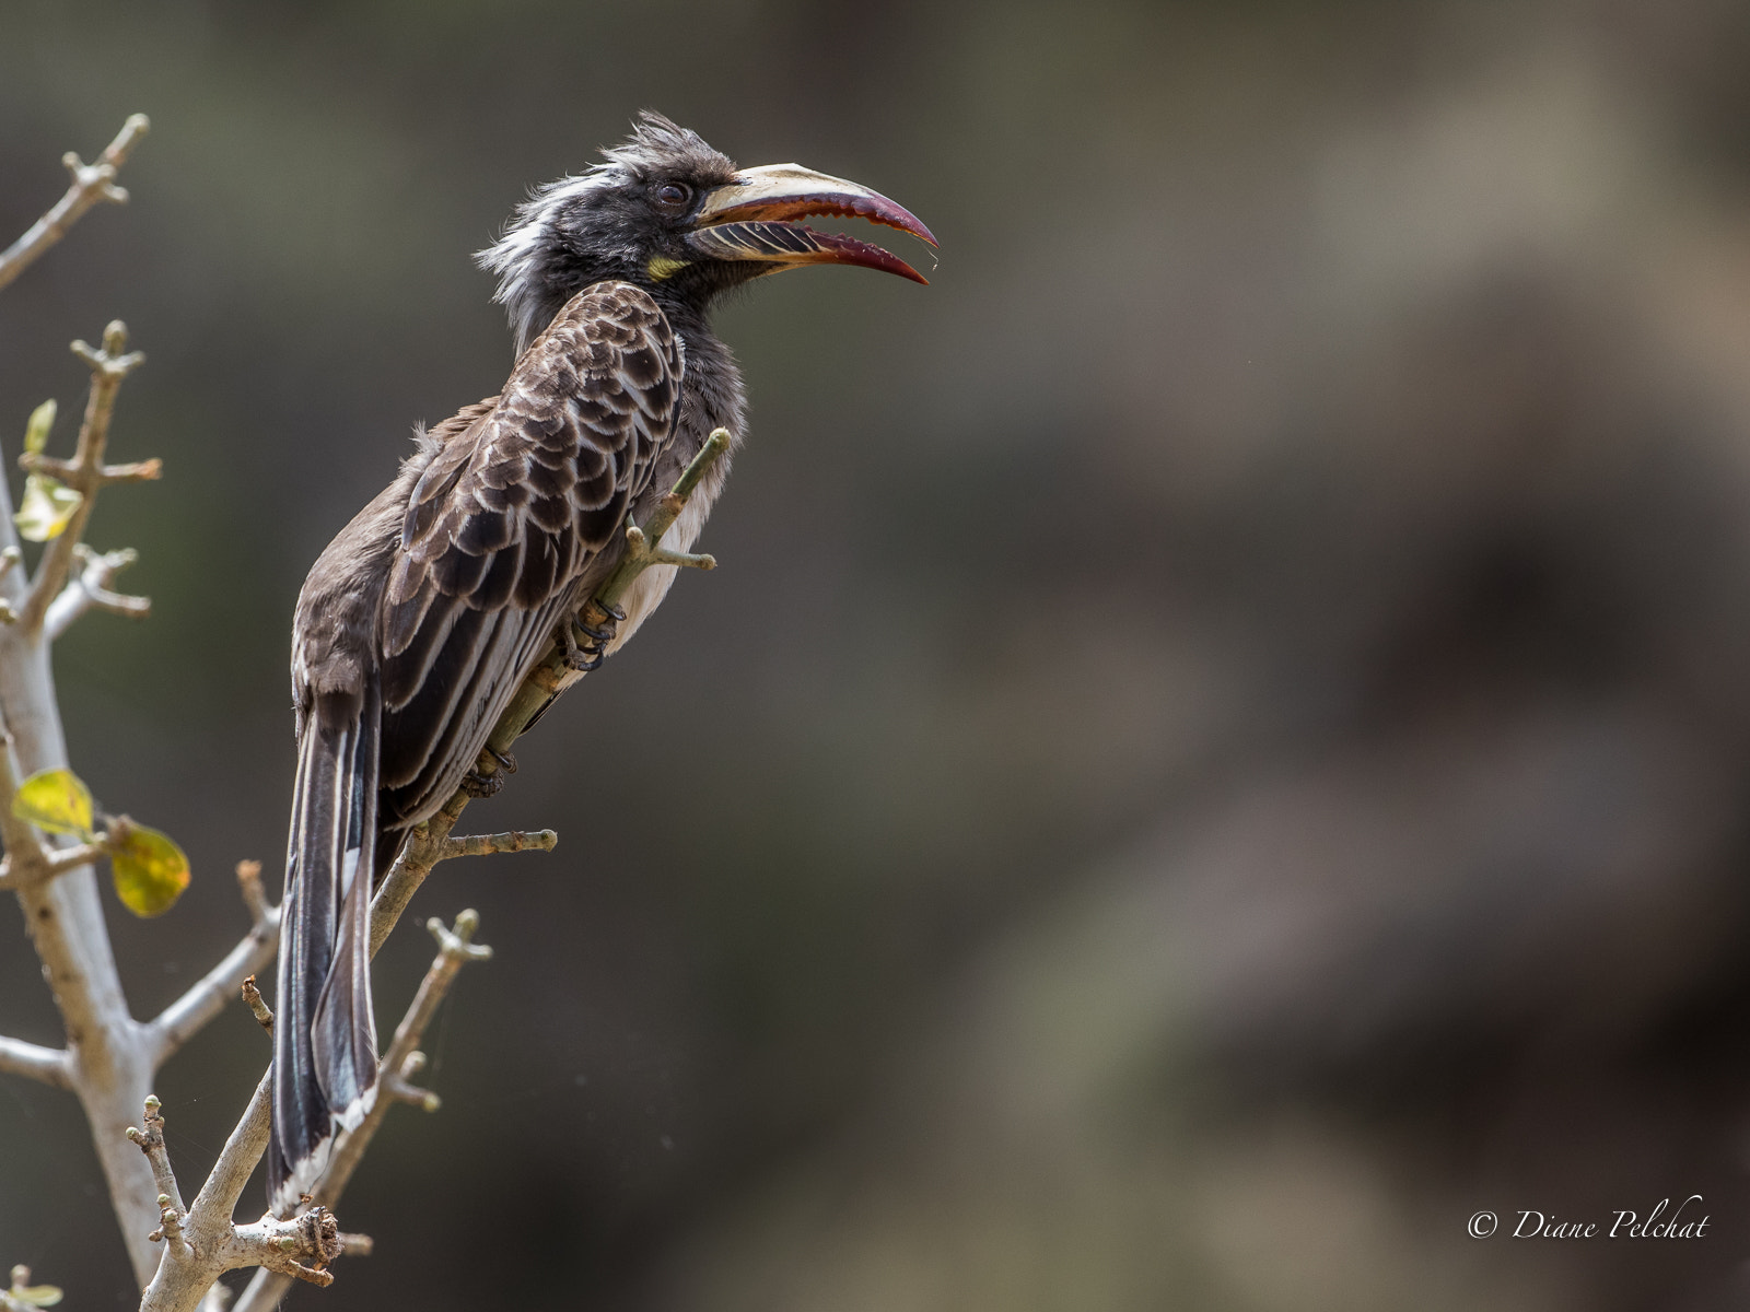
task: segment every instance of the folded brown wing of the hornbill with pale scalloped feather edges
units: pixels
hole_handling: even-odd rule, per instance
[[[382,820],[455,791],[674,437],[681,346],[628,283],[578,294],[408,499],[380,611]]]

